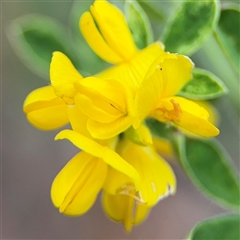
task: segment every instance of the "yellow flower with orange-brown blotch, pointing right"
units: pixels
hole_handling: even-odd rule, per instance
[[[165,53],[154,61],[137,92],[138,124],[151,116],[203,137],[219,134],[203,107],[175,96],[191,80],[192,67],[189,58],[177,54]]]

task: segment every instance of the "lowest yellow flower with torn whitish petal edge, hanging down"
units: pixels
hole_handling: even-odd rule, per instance
[[[176,179],[152,146],[121,140],[116,151],[138,171],[142,181],[137,191],[129,177],[110,168],[103,186],[103,206],[110,218],[123,222],[130,231],[160,199],[175,193]]]

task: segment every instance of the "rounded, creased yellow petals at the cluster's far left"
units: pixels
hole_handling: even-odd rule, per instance
[[[23,111],[36,128],[54,130],[68,123],[65,102],[57,97],[52,86],[38,88],[25,99]]]

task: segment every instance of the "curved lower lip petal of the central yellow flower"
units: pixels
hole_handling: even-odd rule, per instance
[[[124,132],[133,123],[133,118],[122,116],[110,123],[100,123],[92,119],[88,120],[87,129],[94,138],[107,139]]]

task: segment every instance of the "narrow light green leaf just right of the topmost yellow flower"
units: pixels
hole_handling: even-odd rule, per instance
[[[153,32],[147,14],[138,2],[125,3],[125,16],[132,32],[133,39],[139,49],[153,42]]]

